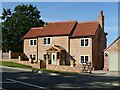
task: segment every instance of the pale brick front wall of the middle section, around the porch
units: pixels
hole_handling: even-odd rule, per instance
[[[43,45],[43,38],[44,37],[39,37],[38,38],[38,60],[43,60],[43,54],[46,53],[46,50],[49,49],[52,45],[59,45],[62,46],[63,48],[66,49],[68,52],[68,47],[69,47],[69,39],[68,36],[54,36],[50,37],[51,38],[51,45]],[[47,37],[46,37],[47,38]],[[68,57],[66,56],[66,61],[68,61]],[[69,64],[69,61],[67,62]]]

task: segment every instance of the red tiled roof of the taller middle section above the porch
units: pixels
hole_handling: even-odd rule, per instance
[[[66,22],[51,22],[44,27],[39,36],[69,35],[76,24],[76,20]]]

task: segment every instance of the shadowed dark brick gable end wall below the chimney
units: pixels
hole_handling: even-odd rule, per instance
[[[104,53],[103,50],[106,48],[106,38],[104,31],[97,28],[95,36],[93,37],[93,67],[94,69],[104,68]]]

